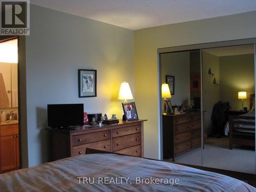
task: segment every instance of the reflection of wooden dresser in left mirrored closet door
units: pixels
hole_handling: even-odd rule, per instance
[[[163,158],[173,158],[201,146],[201,112],[162,115]]]

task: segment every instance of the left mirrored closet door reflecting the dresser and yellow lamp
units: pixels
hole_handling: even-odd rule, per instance
[[[163,159],[201,165],[200,50],[160,54]]]

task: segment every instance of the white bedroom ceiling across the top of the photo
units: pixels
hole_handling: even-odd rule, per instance
[[[256,10],[256,0],[31,0],[30,2],[132,30]]]

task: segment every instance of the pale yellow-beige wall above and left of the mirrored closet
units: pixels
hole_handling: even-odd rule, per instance
[[[145,156],[160,158],[157,49],[256,37],[256,11],[141,29],[134,32],[135,99],[145,123]],[[149,108],[150,106],[150,108]]]

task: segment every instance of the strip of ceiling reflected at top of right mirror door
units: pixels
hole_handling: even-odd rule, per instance
[[[231,46],[231,47],[204,49],[203,51],[219,57],[230,56],[230,55],[244,55],[244,54],[253,54],[254,46],[253,45]]]

